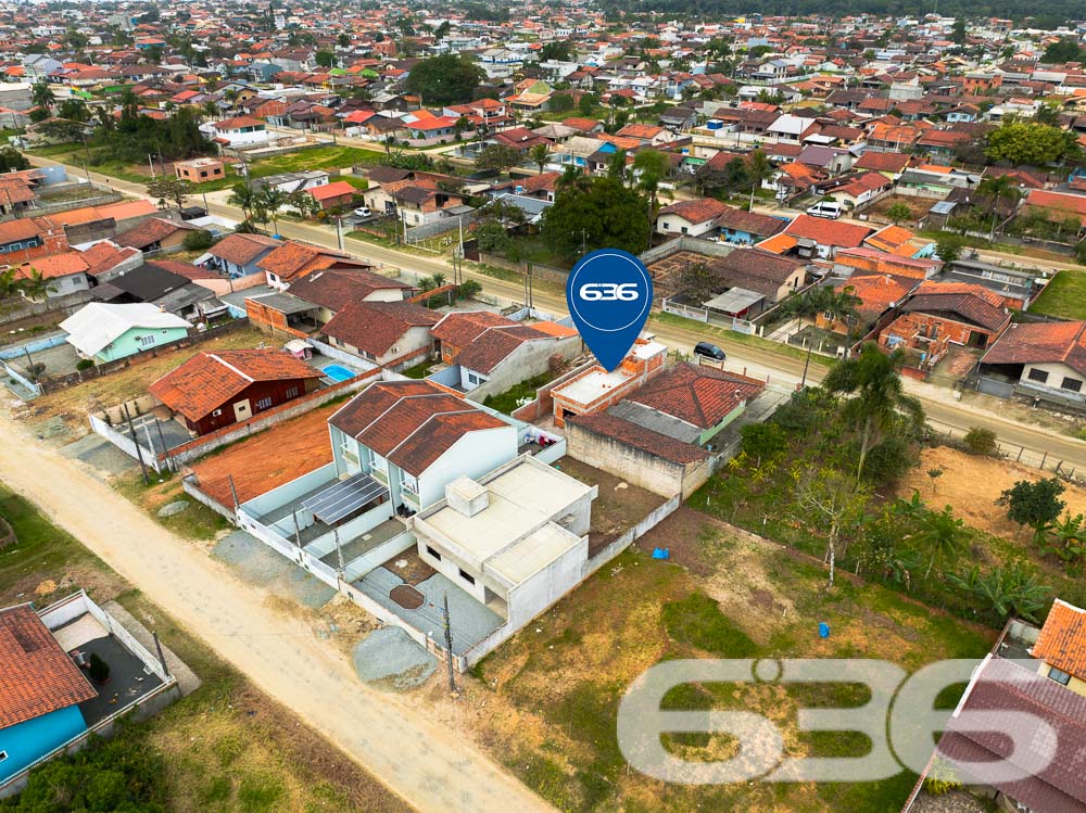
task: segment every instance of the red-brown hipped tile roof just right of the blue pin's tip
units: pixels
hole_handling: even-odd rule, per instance
[[[763,381],[717,370],[679,364],[628,397],[637,404],[673,416],[702,429],[716,427],[736,407],[756,398]]]

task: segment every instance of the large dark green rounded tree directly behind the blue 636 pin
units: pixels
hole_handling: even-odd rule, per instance
[[[645,199],[615,178],[581,178],[563,183],[543,213],[547,245],[569,259],[580,256],[582,244],[589,252],[606,247],[631,254],[648,247]]]

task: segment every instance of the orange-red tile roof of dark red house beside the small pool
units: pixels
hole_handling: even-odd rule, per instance
[[[235,350],[200,353],[149,388],[152,395],[190,421],[228,404],[257,381],[318,379],[321,373],[289,353]]]

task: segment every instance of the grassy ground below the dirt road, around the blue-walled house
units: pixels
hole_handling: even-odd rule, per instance
[[[191,509],[190,509],[191,510]],[[288,709],[190,637],[75,538],[0,485],[0,516],[18,544],[0,550],[0,606],[43,607],[84,587],[153,626],[203,685],[144,723],[126,726],[118,752],[150,751],[163,767],[155,795],[172,813],[406,813],[409,808]],[[182,515],[184,516],[184,515]],[[296,611],[298,608],[293,608]],[[119,770],[119,765],[110,765]],[[55,780],[61,774],[51,774]],[[63,787],[54,789],[63,798]],[[17,810],[18,798],[0,802]],[[60,802],[49,810],[68,810]],[[142,810],[142,808],[141,808]]]

